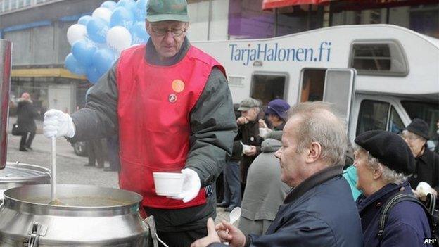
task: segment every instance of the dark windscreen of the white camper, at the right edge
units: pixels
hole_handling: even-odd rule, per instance
[[[431,139],[437,140],[438,133],[436,130],[436,122],[439,120],[439,104],[420,101],[401,101],[402,107],[405,108],[411,119],[421,118],[428,123],[430,129],[428,134]]]

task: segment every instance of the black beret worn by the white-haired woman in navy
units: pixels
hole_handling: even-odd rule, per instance
[[[384,130],[371,130],[359,134],[354,141],[390,170],[402,172],[405,175],[414,172],[412,151],[397,134]]]

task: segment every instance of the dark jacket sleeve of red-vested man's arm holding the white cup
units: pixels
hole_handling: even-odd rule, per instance
[[[238,131],[224,74],[213,68],[190,116],[191,150],[186,168],[198,173],[201,186],[212,184],[229,160]]]

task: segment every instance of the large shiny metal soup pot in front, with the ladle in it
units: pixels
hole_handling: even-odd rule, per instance
[[[4,191],[0,246],[156,246],[153,218],[142,219],[139,194],[67,184],[57,194],[66,205],[47,205],[50,184]]]

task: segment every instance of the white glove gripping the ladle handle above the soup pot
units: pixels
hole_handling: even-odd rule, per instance
[[[61,110],[51,109],[44,113],[43,133],[47,138],[73,137],[75,125],[70,115]]]

